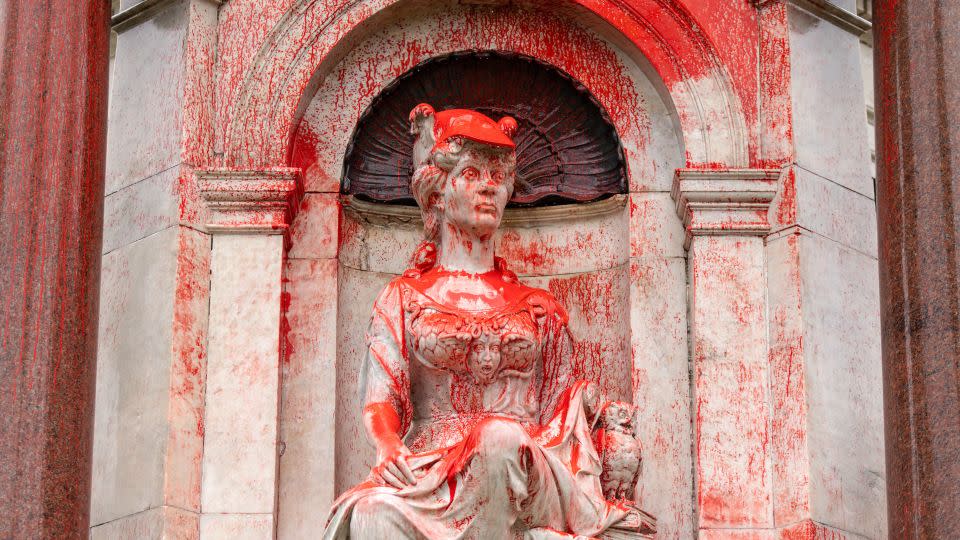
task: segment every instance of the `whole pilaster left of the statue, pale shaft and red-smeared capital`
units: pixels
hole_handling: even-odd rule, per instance
[[[199,171],[213,237],[201,536],[272,538],[276,527],[281,295],[296,170]]]

